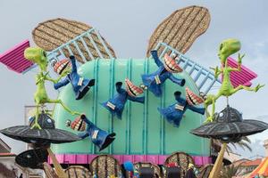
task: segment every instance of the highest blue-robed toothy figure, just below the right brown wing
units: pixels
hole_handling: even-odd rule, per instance
[[[168,54],[164,55],[164,63],[160,61],[157,55],[157,51],[151,51],[151,54],[155,60],[155,64],[158,69],[152,74],[142,75],[142,82],[150,92],[159,97],[162,95],[162,85],[166,79],[172,80],[173,83],[183,86],[185,79],[176,78],[172,73],[181,72],[180,66],[176,63],[175,59],[172,59]]]

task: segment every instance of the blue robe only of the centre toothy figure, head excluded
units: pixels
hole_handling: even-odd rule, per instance
[[[121,114],[125,107],[126,101],[130,100],[130,101],[144,103],[144,100],[145,100],[144,96],[142,97],[130,96],[129,93],[127,93],[125,89],[121,88],[121,85],[122,85],[121,82],[117,82],[115,85],[117,94],[112,99],[101,103],[101,105],[105,107],[105,109],[108,109],[112,113],[113,116],[116,115],[120,119],[121,119]]]

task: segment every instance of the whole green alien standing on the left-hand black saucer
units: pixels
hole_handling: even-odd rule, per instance
[[[72,111],[69,109],[61,100],[51,100],[48,98],[46,93],[46,86],[45,81],[51,81],[54,84],[59,82],[59,80],[65,76],[66,74],[63,72],[63,74],[57,78],[53,79],[51,77],[48,77],[48,71],[46,71],[47,68],[47,59],[46,59],[46,52],[38,47],[29,47],[24,51],[24,57],[29,60],[33,61],[36,64],[38,64],[38,67],[40,69],[39,73],[36,76],[36,85],[37,85],[37,91],[34,94],[34,99],[36,103],[36,118],[38,118],[40,114],[40,107],[44,107],[46,103],[58,103],[63,106],[63,109],[71,113],[71,115],[80,115],[79,112]],[[67,71],[68,72],[68,71]],[[34,125],[32,125],[32,128],[38,128],[41,129],[40,125],[38,125],[38,119],[35,119]]]

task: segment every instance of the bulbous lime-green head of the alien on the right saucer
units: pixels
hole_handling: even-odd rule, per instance
[[[219,48],[219,57],[222,62],[222,64],[225,64],[226,59],[233,53],[237,53],[241,48],[241,44],[239,40],[237,39],[226,39],[223,40],[222,43],[220,44]]]

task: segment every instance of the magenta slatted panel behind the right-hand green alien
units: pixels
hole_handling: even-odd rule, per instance
[[[238,62],[229,57],[228,66],[232,68],[238,68]],[[239,85],[250,86],[252,85],[250,81],[253,80],[255,77],[257,77],[255,72],[246,68],[243,65],[241,66],[240,72],[230,72],[230,82],[234,87],[237,87]]]

